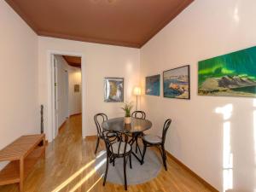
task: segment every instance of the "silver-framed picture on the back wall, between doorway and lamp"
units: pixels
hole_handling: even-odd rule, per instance
[[[124,102],[124,78],[104,79],[105,102]]]

